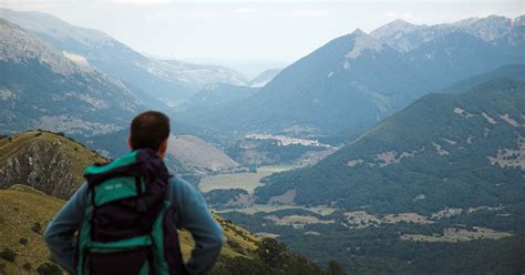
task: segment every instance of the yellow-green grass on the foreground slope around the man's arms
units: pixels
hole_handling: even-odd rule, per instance
[[[7,274],[33,274],[39,265],[50,262],[50,253],[42,232],[64,203],[63,200],[45,195],[25,185],[0,190],[0,251],[11,248],[17,253],[14,263],[0,259],[0,264],[6,264]],[[245,251],[239,252],[225,244],[222,254],[229,257],[251,257],[250,252],[257,248],[259,238],[218,216],[216,220],[222,224],[225,237]],[[37,223],[41,227],[40,233],[35,232]],[[21,244],[21,238],[25,238],[28,244]],[[187,259],[194,247],[193,237],[189,232],[184,231],[179,232],[179,240],[183,256]],[[31,264],[32,272],[23,269],[25,263]]]

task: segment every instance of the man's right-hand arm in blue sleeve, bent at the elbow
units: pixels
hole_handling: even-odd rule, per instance
[[[191,274],[206,274],[212,269],[224,243],[223,228],[209,213],[204,197],[189,183],[169,180],[171,202],[177,207],[177,225],[192,234],[195,248],[186,264]]]

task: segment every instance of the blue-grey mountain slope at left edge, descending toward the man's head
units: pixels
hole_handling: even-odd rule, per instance
[[[146,108],[122,82],[3,19],[0,38],[2,133],[40,128],[78,136],[107,134]]]

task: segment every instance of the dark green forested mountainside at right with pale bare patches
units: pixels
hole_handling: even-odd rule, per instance
[[[431,93],[318,164],[266,179],[255,194],[372,213],[516,204],[525,198],[523,110],[523,81]]]

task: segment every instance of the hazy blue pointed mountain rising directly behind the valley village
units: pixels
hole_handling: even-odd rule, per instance
[[[388,115],[398,99],[410,96],[409,88],[423,89],[414,75],[400,53],[358,30],[286,68],[253,96],[195,122],[243,132],[333,132],[370,124]]]

